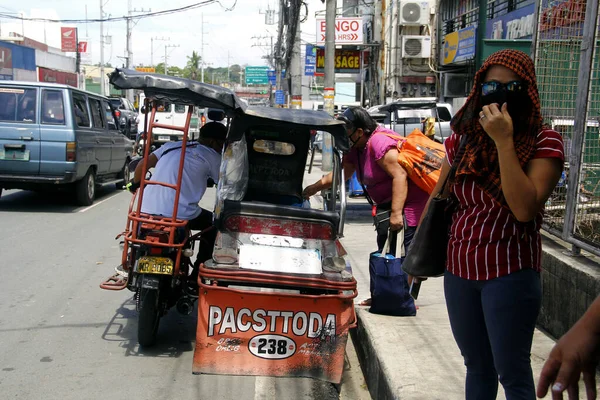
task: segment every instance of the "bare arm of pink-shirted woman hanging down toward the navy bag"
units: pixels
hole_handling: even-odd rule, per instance
[[[402,229],[402,211],[406,196],[408,195],[408,174],[398,163],[398,150],[390,149],[377,160],[377,164],[392,177],[392,213],[390,215],[390,229]]]

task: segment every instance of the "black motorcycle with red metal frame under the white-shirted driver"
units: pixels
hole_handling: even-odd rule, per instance
[[[135,72],[119,70],[111,76],[111,82],[119,81],[122,75]],[[126,79],[127,80],[127,79]],[[207,88],[210,85],[204,85]],[[202,241],[204,231],[192,234],[187,227],[188,221],[176,218],[183,177],[183,165],[185,150],[188,143],[187,132],[193,116],[194,106],[200,106],[206,102],[207,106],[220,105],[221,109],[232,113],[238,106],[237,103],[220,104],[218,98],[227,96],[227,89],[210,87],[205,96],[197,96],[191,103],[187,104],[188,112],[184,126],[170,126],[156,122],[155,114],[157,105],[155,97],[147,94],[146,113],[147,134],[144,135],[143,156],[135,158],[129,165],[130,171],[135,170],[138,163],[143,163],[146,171],[148,158],[153,149],[152,131],[155,128],[172,129],[183,132],[181,145],[181,162],[179,164],[178,178],[176,184],[156,182],[150,180],[151,173],[142,176],[140,187],[134,193],[129,205],[127,224],[125,231],[117,236],[122,241],[122,261],[116,273],[101,283],[100,287],[106,290],[123,290],[125,288],[135,293],[136,309],[138,311],[138,342],[141,346],[151,346],[156,341],[160,319],[169,309],[176,309],[184,315],[189,315],[194,309],[194,302],[198,298],[196,279],[190,278],[193,268],[191,257],[194,255],[196,243]],[[168,91],[165,96],[168,97]],[[199,98],[200,99],[199,99]],[[161,97],[164,100],[165,97]],[[168,100],[168,99],[167,99]],[[173,102],[180,102],[174,99]],[[145,145],[147,144],[147,145]],[[213,182],[214,184],[214,182]],[[144,188],[148,185],[161,185],[175,190],[173,204],[174,217],[154,216],[141,212]],[[208,183],[211,186],[211,182]]]

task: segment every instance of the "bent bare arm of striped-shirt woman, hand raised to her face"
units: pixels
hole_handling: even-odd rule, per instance
[[[538,158],[521,168],[513,140],[513,122],[506,103],[483,107],[480,123],[498,149],[502,193],[508,207],[520,222],[529,222],[542,210],[558,183],[561,160]]]

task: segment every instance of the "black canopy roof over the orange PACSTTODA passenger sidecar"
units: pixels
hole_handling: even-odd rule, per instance
[[[289,128],[293,130],[315,130],[329,132],[337,150],[347,151],[350,143],[343,121],[332,118],[324,111],[298,110],[272,107],[247,107],[231,122],[228,139],[240,140],[248,128],[258,126]]]

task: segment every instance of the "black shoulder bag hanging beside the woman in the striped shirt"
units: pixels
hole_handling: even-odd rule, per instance
[[[452,181],[456,175],[466,141],[467,136],[463,135],[444,185],[429,202],[425,216],[415,232],[402,263],[402,269],[409,275],[435,277],[443,275],[446,270],[450,224],[456,206],[456,199],[450,195],[447,186],[448,181]]]

